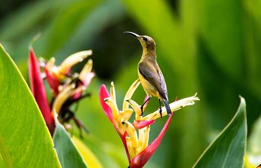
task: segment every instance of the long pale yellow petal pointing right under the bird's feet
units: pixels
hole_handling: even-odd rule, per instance
[[[196,94],[195,94],[194,96],[175,101],[175,102],[170,104],[171,111],[174,112],[174,111],[177,111],[177,110],[179,110],[179,109],[181,109],[185,106],[194,105],[196,100],[199,100],[199,98],[196,97]],[[162,117],[166,116],[166,115],[167,115],[166,108],[163,107],[162,108]],[[159,110],[143,117],[141,120],[150,120],[150,119],[156,120],[157,118],[160,118]]]

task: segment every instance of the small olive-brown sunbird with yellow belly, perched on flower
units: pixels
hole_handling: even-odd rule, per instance
[[[155,41],[149,36],[140,36],[132,32],[124,33],[130,34],[138,39],[143,49],[141,59],[138,63],[138,78],[148,98],[140,107],[141,116],[143,114],[143,106],[152,96],[159,99],[160,116],[162,117],[161,100],[166,107],[168,115],[171,115],[166,82],[156,60]]]

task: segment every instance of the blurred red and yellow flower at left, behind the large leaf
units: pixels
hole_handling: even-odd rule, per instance
[[[33,48],[30,47],[29,77],[31,90],[51,134],[53,134],[55,129],[54,115],[58,115],[59,121],[64,125],[66,124],[65,126],[68,126],[69,120],[72,119],[76,126],[86,129],[74,116],[70,105],[90,95],[89,93],[84,93],[84,91],[95,76],[91,72],[92,60],[89,59],[87,61],[79,74],[71,73],[70,68],[91,54],[91,50],[74,53],[68,56],[60,66],[56,66],[54,57],[49,61],[42,59],[39,63]],[[42,74],[40,66],[44,69]],[[53,97],[50,104],[47,100],[43,78],[47,80],[52,89]]]

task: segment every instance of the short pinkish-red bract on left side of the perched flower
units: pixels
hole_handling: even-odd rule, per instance
[[[113,115],[112,115],[112,110],[111,108],[104,102],[104,99],[107,97],[111,97],[106,86],[104,84],[102,84],[101,88],[100,88],[100,103],[102,105],[103,111],[105,112],[106,116],[109,118],[109,120],[111,121],[111,123],[114,125],[114,121],[113,121]]]

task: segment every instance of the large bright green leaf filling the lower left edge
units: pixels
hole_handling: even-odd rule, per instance
[[[0,44],[0,154],[7,168],[61,168],[31,91]]]

